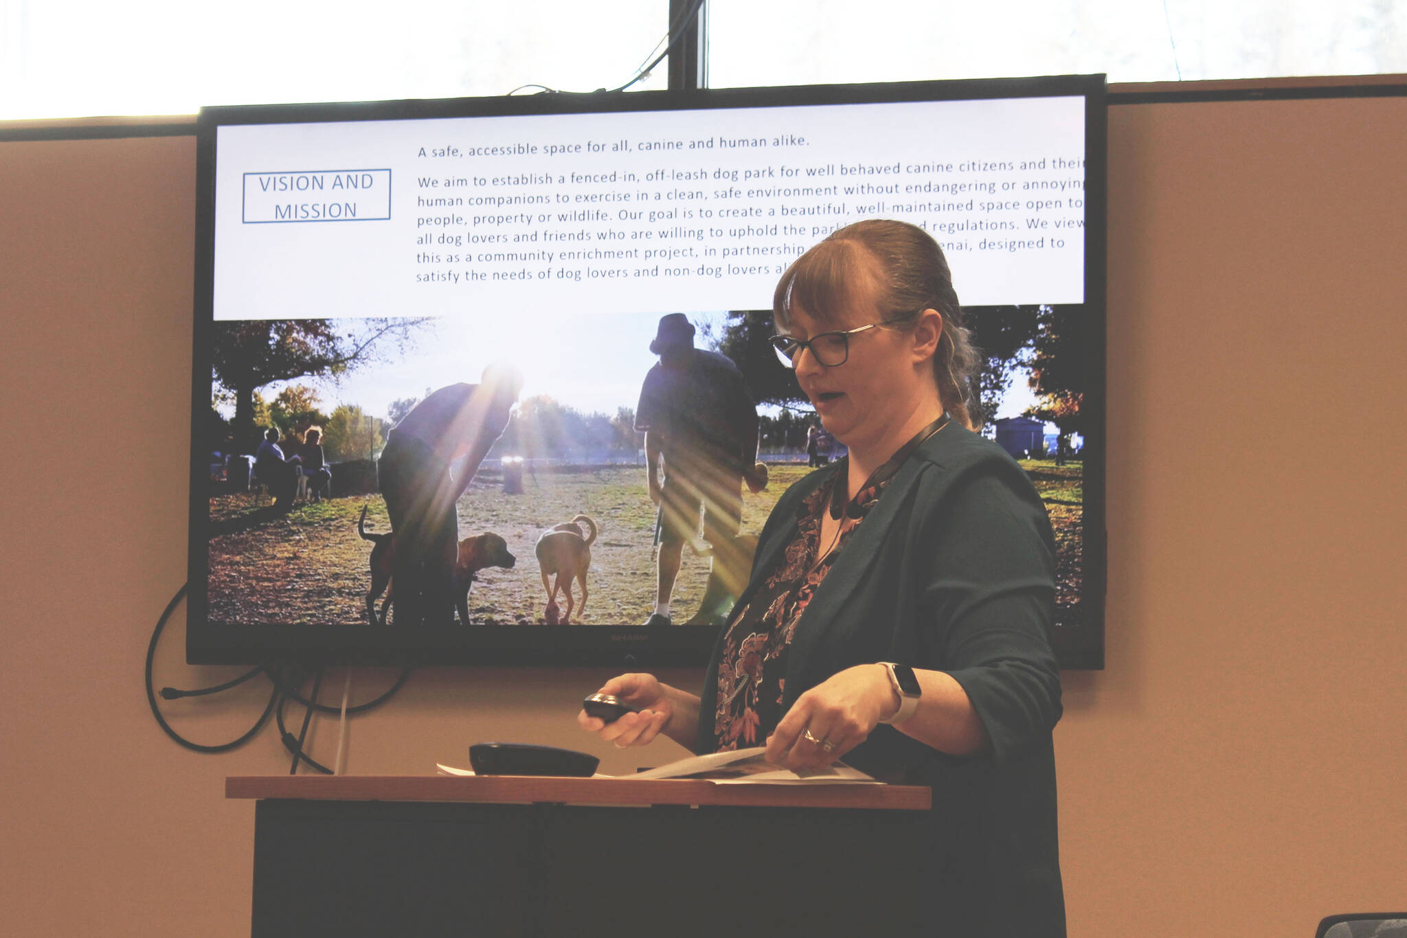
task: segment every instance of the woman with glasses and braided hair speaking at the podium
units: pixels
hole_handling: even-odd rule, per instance
[[[782,276],[772,345],[848,456],[796,482],[758,540],[694,696],[654,676],[578,723],[616,745],[765,741],[933,789],[934,934],[1064,935],[1051,730],[1054,537],[1021,468],[972,432],[976,354],[938,245],[865,221]]]

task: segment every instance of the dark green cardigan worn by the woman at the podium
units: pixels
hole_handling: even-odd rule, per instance
[[[739,602],[777,565],[802,499],[836,468],[777,502]],[[1065,934],[1054,595],[1054,536],[1026,473],[995,443],[950,425],[915,450],[851,534],[788,648],[782,712],[830,675],[872,661],[947,671],[972,700],[991,741],[979,755],[937,752],[879,726],[846,757],[877,778],[933,788],[930,851],[908,862],[933,896],[934,934]],[[718,655],[704,683],[699,752],[718,748]]]

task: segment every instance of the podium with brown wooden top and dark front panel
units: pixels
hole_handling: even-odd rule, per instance
[[[255,938],[917,934],[926,788],[246,776]]]

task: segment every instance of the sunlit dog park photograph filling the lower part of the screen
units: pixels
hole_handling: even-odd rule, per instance
[[[969,311],[982,432],[1045,501],[1065,629],[1081,314]],[[768,335],[765,311],[212,323],[210,619],[720,623],[777,499],[844,453]]]

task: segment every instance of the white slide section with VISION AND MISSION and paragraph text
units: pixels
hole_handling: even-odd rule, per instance
[[[1083,302],[1085,98],[224,125],[215,319],[771,307],[862,218],[965,305]]]

